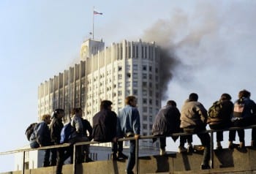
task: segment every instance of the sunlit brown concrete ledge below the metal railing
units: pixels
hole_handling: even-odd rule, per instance
[[[140,173],[256,173],[256,149],[246,147],[214,150],[214,169],[200,170],[203,151],[192,154],[167,154],[166,156],[144,156],[139,158]],[[78,164],[77,174],[121,174],[124,173],[127,162],[97,161]],[[65,164],[62,172],[72,174],[72,164]],[[41,167],[26,170],[25,174],[55,174],[56,167]],[[20,174],[15,171],[4,174]]]

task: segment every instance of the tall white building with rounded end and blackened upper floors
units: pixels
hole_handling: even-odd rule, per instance
[[[134,95],[138,98],[141,135],[151,135],[154,116],[161,107],[159,47],[155,42],[124,40],[105,47],[102,41],[88,39],[80,56],[79,64],[40,84],[38,119],[56,108],[69,113],[72,107],[82,107],[84,117],[91,122],[103,99],[112,101],[117,113],[124,107],[125,97]],[[141,140],[140,148],[152,148],[152,142]]]

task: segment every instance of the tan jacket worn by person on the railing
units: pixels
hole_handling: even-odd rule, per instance
[[[187,99],[181,107],[181,128],[205,127],[207,110],[200,102]]]

